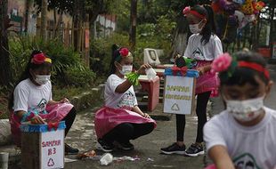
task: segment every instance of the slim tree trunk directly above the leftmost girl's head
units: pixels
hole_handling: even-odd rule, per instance
[[[42,39],[46,38],[46,28],[47,28],[47,0],[42,0],[41,24],[40,24],[40,37]]]

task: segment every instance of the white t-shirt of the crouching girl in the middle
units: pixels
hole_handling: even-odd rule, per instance
[[[109,76],[104,90],[105,106],[115,109],[132,109],[137,105],[134,86],[131,86],[126,93],[115,92],[118,85],[125,82],[125,80],[115,74]]]

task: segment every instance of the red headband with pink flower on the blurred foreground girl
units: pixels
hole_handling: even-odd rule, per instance
[[[236,58],[232,58],[228,52],[221,54],[212,63],[212,72],[228,72],[228,76],[231,76],[235,68],[250,68],[261,72],[267,79],[270,79],[269,71],[262,65],[250,61],[237,61]]]

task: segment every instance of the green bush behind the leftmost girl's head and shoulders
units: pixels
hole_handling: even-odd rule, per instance
[[[81,59],[80,54],[74,52],[73,49],[65,48],[58,39],[45,41],[32,36],[13,36],[10,38],[9,44],[12,76],[16,81],[19,80],[20,74],[26,68],[30,53],[34,49],[39,49],[53,60],[53,83],[60,85],[79,84],[80,82],[73,82],[74,79],[78,80],[78,74],[85,74],[86,79],[89,79],[85,82],[92,84],[93,72],[85,68],[85,63]],[[66,73],[70,76],[65,76]]]

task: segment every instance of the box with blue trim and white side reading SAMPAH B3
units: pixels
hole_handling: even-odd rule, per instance
[[[22,124],[20,126],[22,168],[63,168],[65,128],[64,121],[48,125]]]

